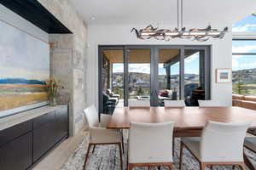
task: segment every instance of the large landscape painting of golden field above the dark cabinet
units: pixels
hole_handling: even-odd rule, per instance
[[[0,113],[48,100],[49,44],[0,21]]]

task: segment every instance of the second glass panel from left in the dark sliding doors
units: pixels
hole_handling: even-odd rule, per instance
[[[136,100],[151,100],[152,86],[151,86],[151,63],[153,62],[153,55],[151,48],[126,47],[125,53],[128,59],[128,74],[125,105]],[[128,88],[128,89],[127,89]]]

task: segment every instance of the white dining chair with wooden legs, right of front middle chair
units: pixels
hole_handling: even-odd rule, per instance
[[[206,166],[230,165],[245,170],[243,161],[243,142],[250,123],[207,122],[201,138],[182,138],[180,149],[180,169],[183,148],[200,162],[200,169]]]

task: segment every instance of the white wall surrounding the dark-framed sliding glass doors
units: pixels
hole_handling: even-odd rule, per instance
[[[88,27],[88,102],[98,106],[98,45],[131,45],[131,44],[157,44],[157,45],[211,45],[212,54],[212,99],[218,100],[223,105],[232,105],[232,83],[216,83],[215,71],[217,68],[232,68],[232,34],[228,32],[224,39],[213,39],[207,42],[196,42],[183,39],[173,39],[169,42],[139,40],[130,33],[134,26],[101,26]],[[143,26],[135,26],[143,28]],[[172,28],[173,26],[165,26]]]

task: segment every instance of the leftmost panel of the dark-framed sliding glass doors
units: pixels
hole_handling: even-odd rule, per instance
[[[112,114],[125,101],[125,50],[120,47],[99,48],[99,109]]]

